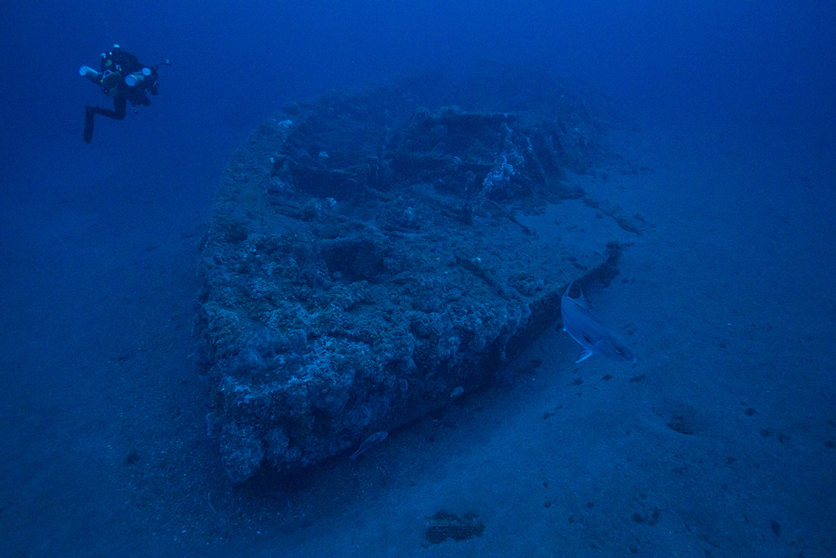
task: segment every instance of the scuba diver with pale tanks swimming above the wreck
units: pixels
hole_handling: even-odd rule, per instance
[[[169,66],[171,62],[163,60],[154,66],[146,66],[140,63],[133,54],[123,52],[119,45],[115,44],[109,53],[102,53],[99,72],[89,66],[82,66],[79,74],[94,84],[98,84],[104,97],[113,97],[113,110],[100,109],[89,104],[85,107],[84,142],[89,144],[93,141],[93,118],[96,114],[121,120],[125,118],[128,101],[134,107],[135,113],[139,112],[136,109],[137,104],[143,106],[151,104],[145,91],[147,90],[152,95],[157,94],[157,89],[160,87],[157,83],[157,68],[163,65]]]

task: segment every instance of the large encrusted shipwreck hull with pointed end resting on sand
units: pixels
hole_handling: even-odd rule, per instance
[[[562,80],[505,70],[329,94],[254,130],[201,244],[196,354],[230,479],[490,382],[569,281],[611,275],[623,227],[579,236],[605,220],[564,180],[603,133]]]

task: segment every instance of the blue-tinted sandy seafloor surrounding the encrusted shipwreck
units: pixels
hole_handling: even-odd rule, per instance
[[[638,363],[574,364],[549,331],[356,463],[243,489],[190,360],[208,196],[6,208],[0,555],[836,555],[834,140],[762,122],[608,143],[630,165],[571,180],[649,224],[588,293]],[[429,545],[438,510],[483,535]]]

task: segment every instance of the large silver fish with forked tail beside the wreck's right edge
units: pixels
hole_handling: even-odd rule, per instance
[[[615,337],[592,312],[589,312],[584,292],[580,292],[579,298],[569,297],[572,285],[573,283],[569,283],[568,289],[560,299],[560,315],[563,317],[563,331],[568,332],[575,341],[580,343],[581,347],[584,347],[575,363],[584,361],[594,354],[635,363],[635,355],[627,348],[627,345]]]

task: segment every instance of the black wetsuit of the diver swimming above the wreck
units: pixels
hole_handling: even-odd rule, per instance
[[[142,84],[134,87],[125,84],[126,76],[140,72],[142,68],[149,68],[151,72]],[[114,49],[113,52],[102,55],[99,85],[101,85],[102,94],[113,97],[113,110],[101,109],[89,104],[84,107],[84,142],[88,144],[93,141],[93,118],[96,114],[121,120],[128,112],[128,101],[131,106],[151,104],[151,100],[145,94],[145,89],[148,89],[152,95],[157,94],[157,70],[155,66],[141,64],[133,54]]]

